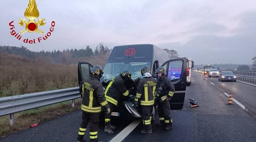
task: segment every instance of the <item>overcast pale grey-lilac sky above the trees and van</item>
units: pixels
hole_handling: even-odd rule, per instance
[[[195,64],[251,64],[256,55],[255,0],[36,0],[46,24],[54,31],[46,41],[26,44],[10,35],[24,29],[19,18],[29,0],[0,1],[0,45],[32,51],[93,49],[99,42],[112,48],[124,44],[155,44],[175,49]],[[28,21],[28,19],[26,19]],[[22,38],[42,37],[24,33]]]

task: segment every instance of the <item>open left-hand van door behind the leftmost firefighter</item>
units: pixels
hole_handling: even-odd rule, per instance
[[[78,84],[81,85],[83,79],[90,76],[92,64],[88,62],[78,62]]]

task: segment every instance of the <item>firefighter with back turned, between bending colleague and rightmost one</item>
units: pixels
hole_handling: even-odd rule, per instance
[[[143,78],[140,79],[137,86],[135,106],[138,107],[138,103],[140,103],[141,106],[143,130],[140,132],[144,134],[151,134],[151,118],[155,100],[156,80],[152,78],[150,68],[148,66],[144,66],[141,69],[141,74]]]

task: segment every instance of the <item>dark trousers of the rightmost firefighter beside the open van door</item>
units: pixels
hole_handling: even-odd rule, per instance
[[[164,101],[163,103],[158,103],[158,115],[161,123],[165,123],[171,128],[172,118],[171,118],[171,108],[169,101]]]

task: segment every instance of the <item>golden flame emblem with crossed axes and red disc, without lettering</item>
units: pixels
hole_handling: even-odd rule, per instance
[[[21,31],[21,34],[26,31],[31,33],[39,32],[40,34],[43,34],[43,31],[38,29],[38,25],[40,25],[40,27],[45,25],[43,22],[45,19],[38,19],[37,22],[35,21],[39,17],[39,11],[35,0],[29,0],[28,7],[26,8],[24,15],[29,21],[27,22],[25,19],[19,19],[21,21],[19,22],[19,25],[26,27],[26,29]]]

